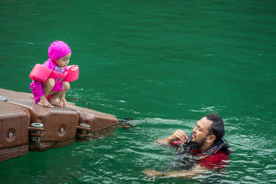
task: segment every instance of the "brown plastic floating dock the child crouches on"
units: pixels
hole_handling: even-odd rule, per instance
[[[31,93],[0,88],[0,162],[63,147],[76,141],[107,136],[119,121],[115,116],[78,107],[43,108]]]

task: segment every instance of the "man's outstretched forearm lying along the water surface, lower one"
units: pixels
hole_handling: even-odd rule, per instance
[[[193,170],[179,170],[179,171],[172,171],[172,172],[157,172],[155,170],[145,170],[144,171],[146,176],[149,177],[168,177],[168,178],[180,178],[180,177],[193,177],[197,176],[197,174],[203,174],[208,172],[208,169],[201,167],[200,165],[195,166]]]

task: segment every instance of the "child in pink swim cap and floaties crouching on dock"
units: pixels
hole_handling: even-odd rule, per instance
[[[35,103],[46,108],[53,108],[52,105],[66,105],[65,94],[70,89],[69,82],[79,77],[78,66],[68,66],[71,53],[66,43],[54,41],[48,49],[49,59],[43,65],[34,66],[30,73],[30,79],[33,80],[30,89]]]

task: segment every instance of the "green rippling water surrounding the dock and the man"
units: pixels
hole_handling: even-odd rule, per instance
[[[67,97],[137,124],[0,163],[1,183],[276,183],[275,1],[0,1],[0,88],[30,92],[28,74],[63,40],[80,78]],[[235,150],[223,174],[147,178],[208,112]]]

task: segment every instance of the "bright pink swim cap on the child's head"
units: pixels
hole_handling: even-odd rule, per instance
[[[61,59],[61,57],[65,57],[70,52],[72,51],[69,46],[63,41],[54,41],[48,49],[48,55],[52,61],[57,61],[58,59]]]

